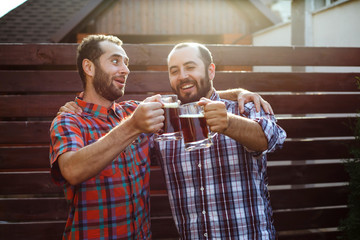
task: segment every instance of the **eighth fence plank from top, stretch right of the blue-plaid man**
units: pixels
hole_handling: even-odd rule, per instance
[[[348,209],[345,207],[274,212],[277,231],[338,227]]]

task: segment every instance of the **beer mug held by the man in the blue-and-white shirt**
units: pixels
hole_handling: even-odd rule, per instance
[[[204,117],[204,110],[197,102],[180,105],[179,117],[186,151],[208,148],[216,133],[212,133]]]

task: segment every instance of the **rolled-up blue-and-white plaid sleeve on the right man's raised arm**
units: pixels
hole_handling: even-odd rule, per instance
[[[264,152],[256,152],[255,155],[262,155],[274,152],[276,149],[282,148],[286,139],[286,132],[278,124],[274,115],[267,114],[261,109],[256,112],[255,105],[250,102],[245,105],[246,117],[256,121],[263,129],[268,141],[268,149]]]

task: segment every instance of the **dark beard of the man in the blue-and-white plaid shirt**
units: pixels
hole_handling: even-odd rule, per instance
[[[189,92],[189,93],[181,93],[180,87],[184,84],[194,84],[194,87],[196,88],[196,92]],[[212,86],[210,83],[209,75],[205,73],[205,76],[200,79],[199,82],[192,80],[192,79],[184,79],[180,82],[179,85],[176,86],[176,88],[171,87],[173,92],[178,95],[179,100],[182,104],[184,103],[190,103],[190,102],[196,102],[199,101],[200,98],[206,97],[207,94],[211,91]]]

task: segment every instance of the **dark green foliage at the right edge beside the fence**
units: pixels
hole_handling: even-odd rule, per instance
[[[360,78],[357,77],[360,89]],[[342,231],[341,239],[360,240],[360,116],[356,118],[355,126],[352,127],[355,135],[355,143],[350,146],[351,159],[345,161],[345,169],[349,173],[349,214],[341,222],[339,229]]]

